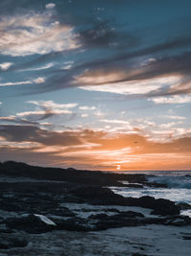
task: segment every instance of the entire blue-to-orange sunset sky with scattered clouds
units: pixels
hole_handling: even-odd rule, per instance
[[[191,170],[189,0],[1,0],[0,161]]]

